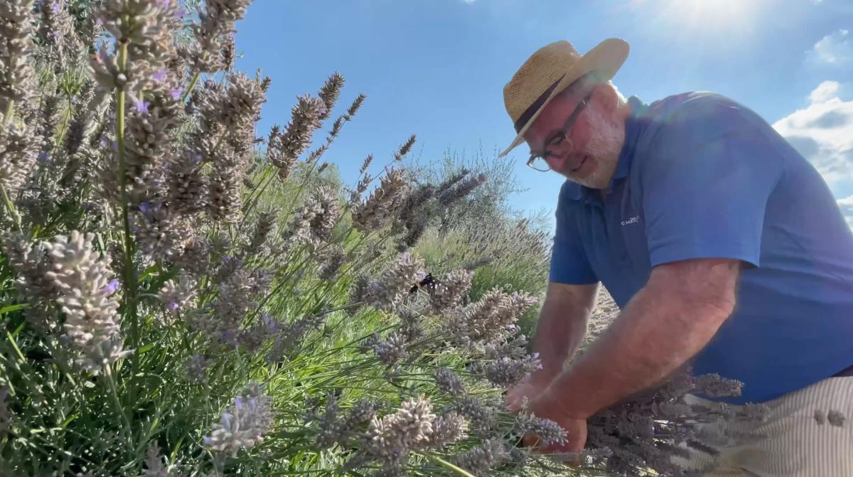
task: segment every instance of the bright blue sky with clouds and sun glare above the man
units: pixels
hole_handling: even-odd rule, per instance
[[[380,167],[413,133],[421,161],[504,148],[503,85],[533,51],[616,37],[631,45],[613,79],[625,96],[709,90],[743,103],[815,164],[853,220],[850,0],[255,0],[237,29],[237,67],[273,79],[259,135],[334,71],[347,79],[335,116],[368,96],[325,155],[347,183],[367,154]],[[506,158],[529,188],[514,207],[553,211],[562,179],[526,168],[526,151]]]

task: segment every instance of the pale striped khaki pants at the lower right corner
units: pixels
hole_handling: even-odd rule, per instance
[[[853,376],[827,378],[765,404],[769,407],[765,422],[729,427],[763,438],[717,447],[716,458],[691,450],[692,458],[676,457],[675,462],[688,469],[713,463],[705,477],[853,477]],[[815,411],[825,416],[830,410],[844,415],[841,427],[815,420]]]

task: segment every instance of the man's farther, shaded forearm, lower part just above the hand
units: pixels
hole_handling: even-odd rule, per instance
[[[572,356],[586,336],[587,310],[571,310],[560,302],[546,302],[533,336],[533,351],[542,360],[542,375],[559,375],[566,358]]]

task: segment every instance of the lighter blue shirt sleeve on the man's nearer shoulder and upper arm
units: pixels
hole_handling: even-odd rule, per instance
[[[652,266],[708,258],[760,265],[783,156],[763,119],[721,98],[685,102],[649,144],[639,180]]]

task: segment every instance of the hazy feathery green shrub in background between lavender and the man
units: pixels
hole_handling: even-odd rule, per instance
[[[528,215],[512,207],[510,197],[524,193],[516,183],[513,164],[487,156],[482,148],[470,157],[446,151],[438,163],[412,161],[422,182],[442,183],[460,172],[485,177],[484,182],[438,217],[414,250],[430,270],[475,270],[471,298],[479,300],[494,287],[523,290],[544,298],[548,284],[550,241],[543,212]],[[538,317],[533,307],[519,318],[521,332],[532,335]]]

